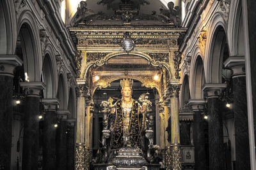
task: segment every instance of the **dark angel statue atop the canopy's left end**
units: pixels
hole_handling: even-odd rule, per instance
[[[88,16],[94,14],[94,12],[92,10],[89,10],[88,8],[86,8],[86,6],[87,6],[86,1],[80,2],[79,6],[77,7],[77,12],[70,22],[70,25],[72,27],[76,26],[79,21],[86,20],[86,18]]]

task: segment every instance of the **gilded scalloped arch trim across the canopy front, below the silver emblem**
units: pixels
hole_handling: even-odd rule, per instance
[[[86,76],[87,76],[87,73],[88,73],[88,70],[90,69],[90,67],[92,67],[92,66],[103,66],[104,64],[108,63],[109,59],[111,59],[113,57],[117,57],[119,55],[124,55],[124,54],[127,54],[127,53],[125,53],[125,52],[109,53],[108,55],[106,55],[106,57],[104,57],[104,59],[87,63],[87,66],[83,69],[83,71],[81,71],[82,78],[84,78],[86,80]],[[155,66],[155,67],[157,67],[157,66],[162,67],[163,66],[166,69],[169,78],[174,77],[174,73],[172,73],[168,63],[156,61],[156,60],[152,59],[146,53],[142,53],[142,52],[130,52],[129,54],[130,55],[136,55],[138,57],[142,57],[142,58],[148,60],[148,63],[151,64],[152,66]]]

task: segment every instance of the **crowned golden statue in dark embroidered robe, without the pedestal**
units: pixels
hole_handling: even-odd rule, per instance
[[[145,131],[145,106],[132,99],[132,80],[123,79],[122,99],[116,101],[110,110],[111,148],[124,146],[140,148],[143,145],[141,133]],[[109,100],[111,104],[111,100]]]

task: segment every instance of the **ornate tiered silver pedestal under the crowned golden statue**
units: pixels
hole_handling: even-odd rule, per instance
[[[116,157],[113,158],[113,166],[116,169],[147,169],[147,160],[141,155],[138,148],[124,147],[118,150]],[[114,167],[114,169],[115,169]]]

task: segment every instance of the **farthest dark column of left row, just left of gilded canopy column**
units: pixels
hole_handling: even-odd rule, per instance
[[[67,120],[67,169],[75,168],[75,127],[76,119]]]

